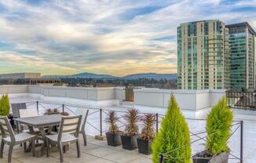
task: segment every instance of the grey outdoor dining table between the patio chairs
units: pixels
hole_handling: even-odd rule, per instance
[[[34,128],[38,128],[40,135],[42,136],[42,147],[41,147],[41,156],[46,148],[46,134],[51,132],[53,126],[60,125],[61,115],[60,114],[52,114],[52,115],[40,115],[36,117],[30,118],[14,118],[14,121],[18,121],[24,125],[28,126],[28,129],[31,133],[34,132]],[[46,132],[45,128],[48,127],[48,132]]]

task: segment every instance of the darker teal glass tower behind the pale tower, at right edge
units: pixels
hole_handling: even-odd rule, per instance
[[[230,89],[255,88],[255,36],[247,22],[230,24]]]

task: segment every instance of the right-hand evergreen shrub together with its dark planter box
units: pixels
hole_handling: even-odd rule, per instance
[[[224,97],[207,116],[207,150],[193,156],[194,163],[228,163],[230,150],[227,143],[231,136],[232,118],[232,110]]]

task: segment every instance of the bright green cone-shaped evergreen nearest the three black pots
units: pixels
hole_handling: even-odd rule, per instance
[[[169,153],[168,153],[169,152]],[[152,161],[159,162],[159,154],[164,154],[164,162],[191,163],[192,152],[188,124],[181,114],[174,96],[170,103],[161,128],[152,143]]]

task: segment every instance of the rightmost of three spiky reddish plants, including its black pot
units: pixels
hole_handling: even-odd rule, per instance
[[[152,140],[155,138],[155,115],[144,114],[141,118],[143,121],[143,129],[141,135],[137,138],[137,147],[141,154],[151,154]]]

